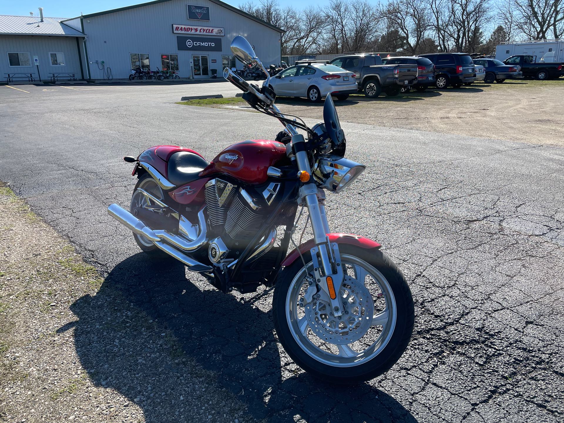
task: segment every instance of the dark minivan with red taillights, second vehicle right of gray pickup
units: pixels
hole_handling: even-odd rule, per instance
[[[476,79],[476,70],[472,56],[467,53],[432,53],[422,54],[435,64],[435,85],[445,88],[452,85],[460,88],[464,83],[472,83]]]

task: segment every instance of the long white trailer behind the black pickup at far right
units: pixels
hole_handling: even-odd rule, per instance
[[[504,61],[513,55],[533,56],[534,63],[564,63],[564,39],[535,39],[502,43],[495,49],[495,58]]]

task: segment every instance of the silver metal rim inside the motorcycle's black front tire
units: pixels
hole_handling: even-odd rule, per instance
[[[358,325],[356,328],[364,333],[356,334],[351,343],[346,343],[345,338],[333,339],[329,342],[319,336],[319,325],[322,323],[319,319],[312,320],[312,316],[320,316],[323,309],[306,310],[306,307],[315,307],[314,301],[304,304],[303,296],[309,287],[305,279],[306,271],[302,268],[290,283],[288,294],[286,297],[286,318],[290,333],[299,347],[318,362],[331,365],[334,367],[353,367],[367,363],[375,358],[384,350],[394,333],[397,320],[397,309],[393,291],[386,277],[381,274],[375,267],[369,265],[364,260],[352,255],[342,254],[341,261],[343,269],[346,270],[345,281],[352,278],[356,283],[362,284],[371,295],[367,303],[360,303],[363,312],[358,307]],[[312,271],[312,263],[307,265]],[[346,297],[342,295],[342,287],[340,289],[341,301],[346,300],[349,304],[358,305],[359,302],[351,301],[350,287],[349,294]],[[316,297],[319,294],[316,294]],[[342,304],[343,310],[347,309],[345,303]],[[369,315],[367,315],[367,311]],[[317,312],[317,314],[316,314]],[[343,316],[344,318],[345,316]],[[331,318],[330,318],[331,319]],[[332,318],[334,320],[334,318]],[[323,320],[323,319],[321,319]],[[325,323],[329,321],[323,320]],[[366,322],[368,321],[368,324]],[[316,331],[312,327],[316,327]],[[356,329],[353,329],[355,331]],[[351,333],[353,332],[351,331]]]

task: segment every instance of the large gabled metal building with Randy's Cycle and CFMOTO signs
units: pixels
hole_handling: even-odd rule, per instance
[[[230,50],[238,35],[266,65],[280,62],[282,30],[220,0],[156,0],[63,23],[86,34],[85,72],[94,80],[127,78],[136,67],[209,78],[211,69],[241,68]]]

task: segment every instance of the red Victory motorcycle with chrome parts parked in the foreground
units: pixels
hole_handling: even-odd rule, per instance
[[[285,129],[276,140],[232,144],[211,162],[176,146],[124,157],[139,179],[129,211],[112,204],[108,212],[144,252],[170,254],[222,292],[274,287],[276,334],[305,371],[337,384],[372,379],[406,350],[414,310],[402,272],[380,244],[329,230],[325,191],[345,190],[365,166],[343,157],[331,95],[324,122],[310,128],[275,106],[268,71],[245,38],[235,37],[231,51],[261,67],[266,81],[249,84],[228,68],[223,76]],[[287,254],[304,207],[314,237]]]

